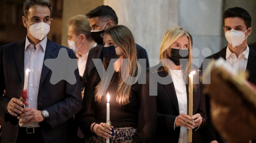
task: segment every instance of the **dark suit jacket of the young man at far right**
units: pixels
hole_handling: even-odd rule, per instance
[[[252,82],[253,84],[256,84],[256,51],[252,48],[249,47],[249,56],[248,56],[248,62],[246,66],[246,70],[249,72],[249,78],[248,81]],[[219,52],[206,57],[206,59],[219,59],[220,57],[224,58],[226,60],[226,50],[227,47],[224,47],[222,50]],[[208,65],[209,63],[206,61],[203,61]],[[202,70],[202,66],[200,68]],[[202,136],[204,137],[204,142],[209,143],[213,140],[217,140],[219,143],[223,143],[224,140],[220,136],[219,133],[215,131],[211,124],[211,117],[210,117],[210,103],[209,103],[209,97],[206,96],[206,111],[207,111],[207,125],[206,127],[202,130]]]

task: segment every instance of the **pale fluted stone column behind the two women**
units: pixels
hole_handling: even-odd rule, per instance
[[[165,32],[178,26],[178,0],[104,0],[113,8],[118,24],[127,26],[135,42],[146,49],[149,58],[159,59],[159,46]],[[150,61],[150,66],[157,61]]]

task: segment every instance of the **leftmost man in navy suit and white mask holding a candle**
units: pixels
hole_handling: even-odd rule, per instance
[[[82,107],[78,69],[76,83],[50,83],[52,71],[43,62],[55,59],[63,46],[47,39],[52,22],[49,0],[26,0],[22,22],[25,39],[0,47],[0,116],[3,117],[2,143],[66,142],[66,121]],[[69,58],[75,54],[66,48]],[[28,86],[24,71],[30,69]],[[28,90],[26,108],[20,107],[22,89]],[[20,119],[20,121],[19,121]],[[19,123],[23,123],[19,127]]]

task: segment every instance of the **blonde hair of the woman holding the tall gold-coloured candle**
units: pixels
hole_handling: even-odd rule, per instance
[[[188,74],[191,72],[191,59],[192,59],[192,40],[190,37],[190,34],[182,29],[182,27],[177,26],[177,27],[173,27],[169,30],[166,31],[164,38],[161,42],[160,45],[160,50],[159,50],[159,59],[169,59],[171,56],[171,49],[170,46],[181,36],[187,36],[189,39],[189,58],[188,58],[188,64],[187,65],[183,65],[183,74],[184,74],[184,79],[187,78]],[[169,69],[170,66],[167,63],[167,61],[163,60],[163,65],[159,71],[166,71],[167,73],[171,74]],[[194,78],[195,79],[195,78]],[[195,83],[195,82],[194,82]],[[194,84],[194,88],[196,88],[197,86]]]

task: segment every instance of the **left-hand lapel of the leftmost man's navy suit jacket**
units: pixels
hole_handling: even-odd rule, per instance
[[[24,51],[25,51],[25,39],[19,41],[16,47],[13,48],[13,57],[20,75],[22,82],[24,83]]]

